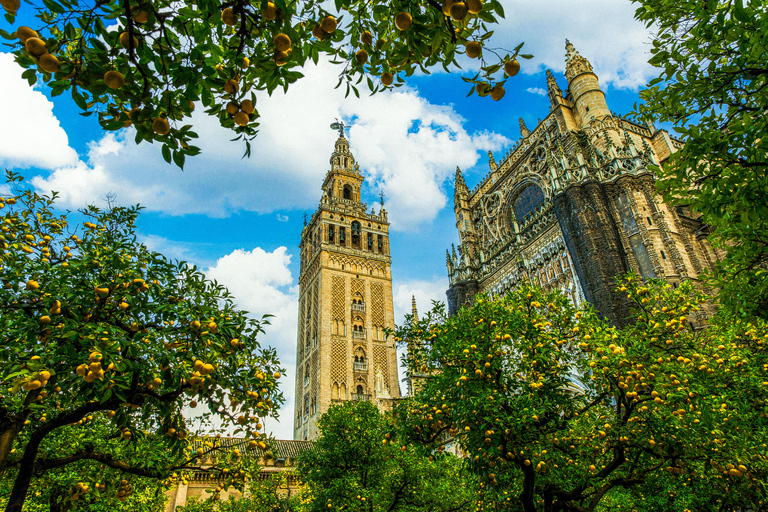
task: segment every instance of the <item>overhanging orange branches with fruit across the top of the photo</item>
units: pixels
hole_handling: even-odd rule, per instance
[[[0,4],[10,23],[30,8]],[[490,45],[488,27],[504,15],[498,0],[46,0],[33,8],[34,27],[0,34],[14,41],[23,76],[34,83],[41,73],[54,96],[71,92],[106,130],[134,125],[136,142],[161,142],[179,166],[199,152],[185,122],[195,102],[247,144],[258,126],[253,92],[287,89],[321,55],[341,65],[339,85],[359,96],[363,80],[371,91],[402,85],[466,53],[481,59],[466,80],[497,100],[520,68],[516,57],[530,58],[522,45]]]

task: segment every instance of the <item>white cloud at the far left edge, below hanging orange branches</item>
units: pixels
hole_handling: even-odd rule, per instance
[[[10,53],[0,53],[0,166],[53,169],[77,161],[53,115],[53,103],[21,78]]]

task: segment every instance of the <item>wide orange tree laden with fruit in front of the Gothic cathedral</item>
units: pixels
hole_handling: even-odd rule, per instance
[[[688,283],[619,291],[636,307],[622,330],[531,286],[400,329],[422,340],[409,370],[431,373],[405,430],[459,443],[490,508],[765,510],[768,328],[694,329],[704,297]]]

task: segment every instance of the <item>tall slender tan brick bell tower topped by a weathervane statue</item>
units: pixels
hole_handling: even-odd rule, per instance
[[[335,125],[334,125],[335,126]],[[301,233],[294,439],[316,439],[334,402],[400,397],[394,341],[389,223],[360,201],[365,178],[344,127],[323,181],[320,206]]]

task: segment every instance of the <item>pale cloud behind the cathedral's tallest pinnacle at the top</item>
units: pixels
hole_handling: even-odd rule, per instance
[[[617,0],[502,0],[506,20],[496,29],[494,46],[525,42],[522,71],[565,70],[565,39],[592,63],[600,83],[637,89],[654,73],[648,64],[651,32],[634,19],[635,5]],[[557,36],[553,36],[556,34]],[[565,84],[560,84],[564,88]]]

